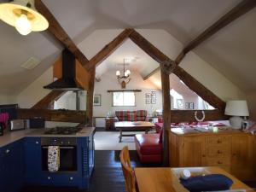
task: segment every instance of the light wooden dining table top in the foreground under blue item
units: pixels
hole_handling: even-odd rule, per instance
[[[139,192],[188,192],[179,182],[181,172],[188,169],[191,175],[223,174],[233,181],[230,189],[237,189],[236,192],[254,191],[245,183],[242,183],[230,173],[225,172],[217,166],[209,167],[138,167],[134,169]],[[239,189],[239,190],[238,190]]]

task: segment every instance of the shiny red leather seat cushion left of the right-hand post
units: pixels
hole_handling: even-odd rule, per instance
[[[160,134],[137,134],[135,136],[135,143],[137,150],[141,154],[161,154],[162,144],[160,141]]]

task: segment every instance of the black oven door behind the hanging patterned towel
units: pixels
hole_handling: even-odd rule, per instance
[[[42,146],[42,170],[48,171],[48,146]],[[60,146],[58,172],[77,172],[77,146]]]

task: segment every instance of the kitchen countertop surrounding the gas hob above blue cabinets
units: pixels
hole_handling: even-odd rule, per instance
[[[48,128],[46,128],[48,129]],[[84,127],[81,131],[73,135],[45,135],[46,129],[27,129],[22,131],[5,131],[0,137],[0,148],[9,143],[14,143],[24,137],[89,137],[94,131],[94,127]]]

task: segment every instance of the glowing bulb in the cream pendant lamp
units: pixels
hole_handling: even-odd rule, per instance
[[[15,22],[15,28],[21,35],[27,35],[32,32],[32,23],[27,16],[22,14]]]

